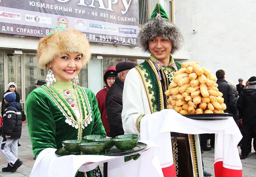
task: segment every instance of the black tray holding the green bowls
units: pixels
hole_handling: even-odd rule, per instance
[[[126,156],[126,155],[131,155],[131,154],[134,154],[134,153],[139,153],[139,152],[145,150],[147,147],[148,147],[148,145],[146,143],[138,142],[137,146],[135,148],[133,148],[133,150],[122,152],[121,150],[117,149],[116,146],[113,146],[110,149],[110,151],[107,151],[107,152],[102,151],[98,155],[102,155],[102,156]],[[69,152],[67,150],[65,150],[64,148],[60,148],[60,149],[56,150],[55,154],[58,157],[70,155]],[[80,154],[77,154],[77,155],[80,155]]]

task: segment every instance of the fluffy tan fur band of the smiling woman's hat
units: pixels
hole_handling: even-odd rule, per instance
[[[90,44],[86,36],[76,29],[67,29],[43,37],[40,39],[37,49],[39,65],[44,67],[50,63],[55,56],[67,52],[81,53],[83,55],[82,64],[86,65],[91,58]]]

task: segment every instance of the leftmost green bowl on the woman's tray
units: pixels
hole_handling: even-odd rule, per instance
[[[62,142],[62,146],[70,154],[80,154],[79,144],[87,142],[86,140],[65,140]]]

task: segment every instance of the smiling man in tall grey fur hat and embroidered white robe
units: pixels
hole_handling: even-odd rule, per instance
[[[172,54],[181,48],[183,37],[159,3],[140,29],[138,40],[140,47],[151,55],[126,77],[122,111],[124,134],[140,135],[141,120],[154,120],[155,113],[167,108],[168,97],[164,92],[172,82],[173,73],[181,67]],[[169,132],[164,132],[155,142],[160,147],[158,157],[164,176],[203,176],[198,135],[171,132],[170,136]]]

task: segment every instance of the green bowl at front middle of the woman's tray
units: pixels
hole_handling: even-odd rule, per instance
[[[105,148],[104,142],[85,142],[79,145],[84,155],[97,155]]]

